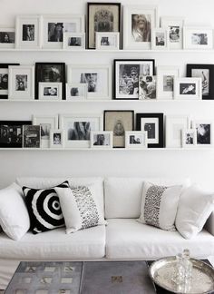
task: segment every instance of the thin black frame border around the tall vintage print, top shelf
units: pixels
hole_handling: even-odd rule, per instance
[[[119,19],[119,31],[118,33],[120,33],[120,49],[122,49],[122,4],[121,3],[117,3],[117,2],[88,2],[87,3],[87,27],[86,27],[86,36],[87,36],[87,43],[86,43],[86,46],[88,49],[95,49],[95,47],[90,47],[89,46],[89,31],[90,31],[90,21],[89,21],[89,9],[90,9],[90,5],[100,5],[100,6],[103,6],[103,5],[116,5],[119,7],[119,15],[118,15],[118,19]],[[106,33],[106,32],[105,32]]]

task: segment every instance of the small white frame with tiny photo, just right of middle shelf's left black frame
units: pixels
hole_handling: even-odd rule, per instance
[[[66,83],[66,100],[86,99],[87,92],[87,83]]]

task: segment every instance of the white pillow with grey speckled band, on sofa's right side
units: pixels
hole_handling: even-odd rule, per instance
[[[141,216],[138,221],[162,230],[175,230],[175,218],[182,185],[160,186],[145,181],[142,189]]]

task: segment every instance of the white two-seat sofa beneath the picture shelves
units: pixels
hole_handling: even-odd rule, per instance
[[[194,258],[214,256],[214,213],[206,229],[191,240],[184,239],[178,231],[160,230],[136,221],[140,217],[143,181],[170,185],[188,184],[189,180],[18,178],[16,182],[46,189],[65,180],[73,185],[96,184],[108,225],[72,234],[65,234],[64,228],[36,235],[27,232],[18,241],[0,233],[0,289],[5,289],[20,260],[156,260],[185,248]]]

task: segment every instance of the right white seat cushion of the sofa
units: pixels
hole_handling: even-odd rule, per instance
[[[214,237],[202,230],[185,240],[178,231],[160,230],[133,219],[111,219],[106,227],[107,259],[157,260],[190,249],[194,258],[214,255]]]

